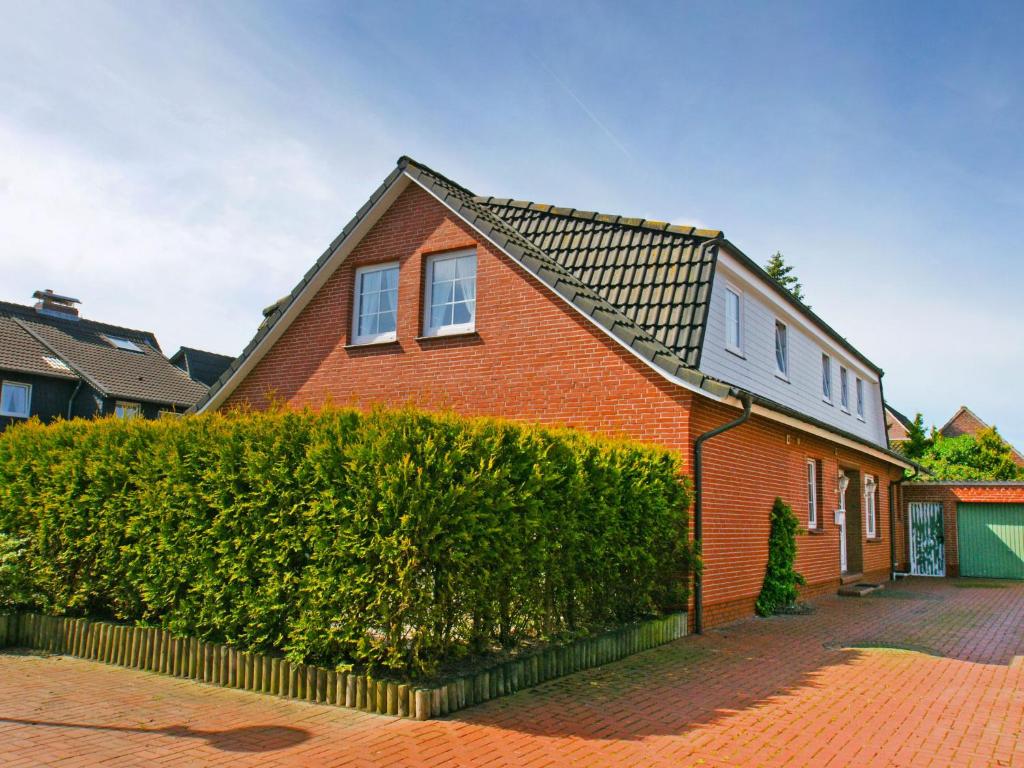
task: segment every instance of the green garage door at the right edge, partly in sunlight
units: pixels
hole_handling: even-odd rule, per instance
[[[956,508],[961,575],[1024,579],[1024,504]]]

